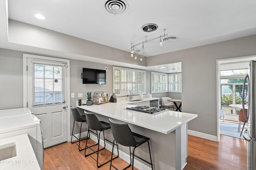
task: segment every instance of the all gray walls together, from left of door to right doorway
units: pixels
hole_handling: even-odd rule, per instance
[[[182,111],[196,113],[198,117],[188,123],[188,129],[217,135],[217,86],[216,60],[256,54],[256,35],[223,41],[201,47],[185,49],[163,55],[148,57],[148,66],[182,62]],[[40,55],[40,54],[38,54]],[[161,58],[161,60],[159,60]],[[111,86],[83,85],[80,77],[82,67],[112,67],[110,65],[70,60],[70,92],[112,92]],[[112,81],[112,68],[108,68],[107,83]],[[147,72],[147,92],[150,92],[150,74]],[[96,87],[96,88],[95,88]],[[95,89],[95,90],[94,90]],[[158,96],[154,94],[153,96]],[[171,98],[174,94],[165,93]],[[175,94],[178,95],[178,94]],[[84,97],[85,98],[85,97]],[[71,99],[75,105],[78,98]],[[0,49],[0,109],[23,106],[22,52]]]

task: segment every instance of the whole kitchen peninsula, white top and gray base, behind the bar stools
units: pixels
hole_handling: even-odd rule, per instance
[[[113,118],[129,124],[131,130],[135,133],[144,135],[150,138],[150,145],[152,146],[152,161],[154,169],[156,170],[181,170],[186,166],[186,158],[188,156],[187,144],[187,123],[198,115],[178,112],[178,111],[165,111],[156,115],[126,110],[126,107],[135,107],[148,105],[149,101],[159,100],[160,98],[144,98],[133,100],[122,100],[117,98],[116,103],[106,103],[92,106],[78,106],[90,112],[98,114],[100,120],[108,121],[108,118]],[[82,101],[82,104],[86,101]],[[82,112],[82,111],[81,111]],[[107,134],[107,138],[113,138],[112,135]],[[96,138],[95,138],[96,139]],[[112,150],[112,145],[106,146],[108,150]],[[129,160],[129,153],[124,149],[119,148],[122,154],[120,158]],[[146,154],[146,145],[139,147],[137,152],[140,153],[142,158],[149,161],[148,154]],[[134,166],[138,169],[149,170],[151,167],[144,162],[135,159]]]

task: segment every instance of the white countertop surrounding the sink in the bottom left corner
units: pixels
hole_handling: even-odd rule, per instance
[[[36,155],[27,134],[0,139],[0,146],[16,144],[17,156],[0,161],[1,170],[40,170]]]

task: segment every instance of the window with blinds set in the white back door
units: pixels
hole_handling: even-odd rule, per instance
[[[33,107],[65,102],[63,67],[33,63]]]

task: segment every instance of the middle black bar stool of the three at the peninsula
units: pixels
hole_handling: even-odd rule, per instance
[[[90,154],[96,153],[97,154],[97,167],[100,168],[101,166],[103,166],[104,164],[110,162],[110,160],[108,160],[107,162],[98,165],[98,159],[99,159],[99,151],[102,149],[105,149],[105,140],[112,143],[111,141],[109,141],[108,139],[105,139],[105,134],[104,131],[107,129],[110,129],[110,124],[104,121],[99,121],[98,118],[96,117],[95,113],[88,113],[86,111],[84,111],[84,114],[86,116],[86,120],[87,120],[87,125],[88,125],[88,133],[87,133],[87,137],[89,135],[89,129],[92,129],[94,131],[96,131],[96,135],[97,135],[97,139],[98,139],[98,143],[88,146],[87,145],[87,140],[86,140],[86,146],[85,146],[85,151],[84,151],[84,156],[89,156]],[[102,149],[100,148],[100,133],[98,135],[98,131],[100,131],[100,133],[103,131],[103,137],[104,137],[104,147]],[[93,150],[91,147],[98,145],[98,150]],[[114,144],[113,144],[114,145]],[[93,152],[90,154],[86,154],[86,149],[89,148],[90,150],[92,150]],[[115,157],[117,158],[119,156],[119,152],[118,155]],[[113,158],[113,159],[115,159]],[[111,157],[112,159],[112,157]]]

